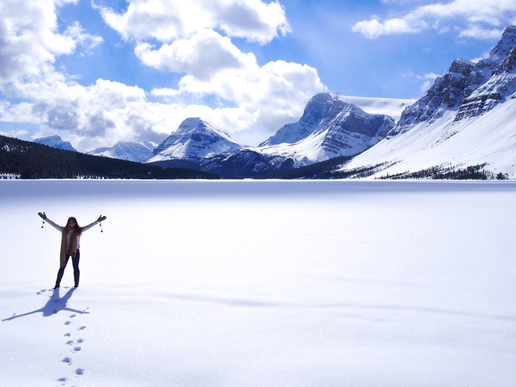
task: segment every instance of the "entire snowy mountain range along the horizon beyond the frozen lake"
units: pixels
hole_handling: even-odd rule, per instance
[[[316,94],[299,121],[284,125],[257,147],[238,143],[200,118],[187,118],[154,149],[149,143],[118,142],[88,153],[239,177],[357,154],[338,168],[327,165],[342,176],[357,170],[372,178],[470,165],[513,176],[515,36],[516,27],[508,26],[477,63],[455,59],[416,101]],[[71,148],[58,136],[38,140]]]

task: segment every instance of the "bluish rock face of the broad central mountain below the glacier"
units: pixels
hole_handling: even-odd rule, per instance
[[[360,138],[365,148],[378,142],[394,126],[394,120],[383,114],[368,114],[339,98],[339,94],[319,93],[312,97],[298,122],[283,126],[259,147],[295,143],[310,135],[327,131],[321,146],[335,155],[357,146]],[[367,137],[367,138],[365,138]]]

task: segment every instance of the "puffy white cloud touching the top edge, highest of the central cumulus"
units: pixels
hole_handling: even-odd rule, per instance
[[[260,0],[128,0],[123,13],[96,5],[105,23],[124,39],[169,42],[203,29],[221,29],[230,37],[265,44],[291,31],[279,2]]]

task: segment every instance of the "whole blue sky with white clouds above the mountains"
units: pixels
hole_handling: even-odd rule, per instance
[[[484,3],[0,0],[0,133],[86,151],[195,116],[256,145],[317,92],[419,98],[516,24]]]

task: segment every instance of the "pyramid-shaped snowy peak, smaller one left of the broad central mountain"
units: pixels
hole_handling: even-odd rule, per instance
[[[243,145],[200,118],[187,118],[153,151],[149,163],[172,158],[209,157],[229,153]]]

